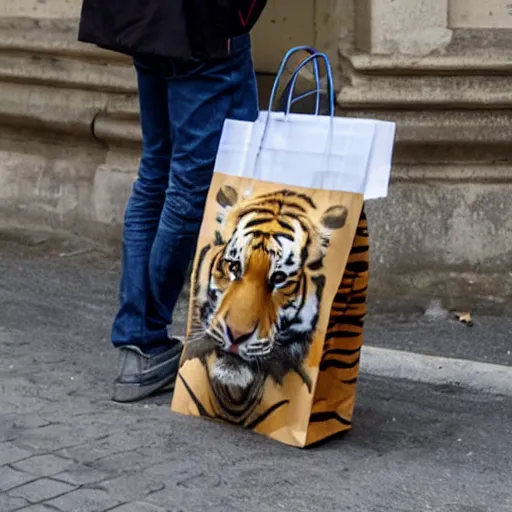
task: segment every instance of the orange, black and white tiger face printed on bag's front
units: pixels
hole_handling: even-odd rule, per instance
[[[262,372],[280,384],[297,371],[309,385],[302,363],[317,327],[323,259],[347,209],[319,215],[311,198],[290,190],[239,200],[224,186],[216,199],[219,229],[199,256],[192,326],[217,353],[212,377],[246,387]]]

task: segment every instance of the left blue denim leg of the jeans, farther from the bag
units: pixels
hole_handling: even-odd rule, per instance
[[[112,342],[142,348],[166,336],[166,325],[151,308],[148,264],[169,183],[171,131],[166,80],[150,68],[139,68],[137,77],[143,149],[124,217],[120,308]]]

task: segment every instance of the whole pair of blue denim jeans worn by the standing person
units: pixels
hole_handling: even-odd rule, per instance
[[[187,277],[226,118],[258,116],[249,36],[229,59],[134,59],[143,149],[126,207],[115,346],[152,352],[169,343],[168,326]]]

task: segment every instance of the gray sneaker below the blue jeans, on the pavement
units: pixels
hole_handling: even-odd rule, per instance
[[[127,345],[119,349],[119,373],[114,381],[114,402],[136,402],[176,380],[183,345],[174,344],[156,356],[144,354],[139,347]]]

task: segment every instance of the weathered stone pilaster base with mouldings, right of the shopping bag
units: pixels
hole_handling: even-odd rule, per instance
[[[374,274],[398,293],[451,288],[469,299],[469,289],[493,295],[490,283],[510,291],[510,7],[355,4],[354,44],[340,47],[339,112],[398,126],[391,195],[369,208]]]

